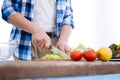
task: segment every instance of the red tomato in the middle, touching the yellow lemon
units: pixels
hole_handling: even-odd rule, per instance
[[[95,61],[97,58],[97,53],[94,49],[89,48],[87,50],[85,50],[83,52],[83,57],[87,60],[87,61]]]

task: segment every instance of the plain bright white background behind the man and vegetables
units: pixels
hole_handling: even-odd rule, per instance
[[[75,29],[69,45],[98,49],[120,43],[120,0],[71,0]],[[0,0],[0,7],[3,0]],[[0,12],[1,16],[1,12]],[[0,42],[9,40],[11,25],[0,18]]]

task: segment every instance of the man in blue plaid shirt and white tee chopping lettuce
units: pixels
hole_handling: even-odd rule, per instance
[[[70,52],[72,12],[71,0],[4,0],[2,18],[13,25],[10,40],[18,41],[15,57],[39,58],[51,44]]]

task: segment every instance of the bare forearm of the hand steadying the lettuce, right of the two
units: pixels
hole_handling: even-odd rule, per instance
[[[62,27],[59,40],[64,40],[68,42],[69,36],[71,34],[72,27],[70,25],[64,25]]]

